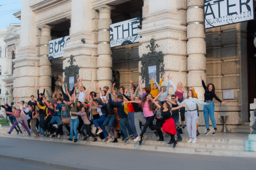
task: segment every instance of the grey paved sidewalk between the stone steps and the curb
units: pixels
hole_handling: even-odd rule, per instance
[[[194,170],[251,170],[256,164],[256,158],[171,154],[1,137],[0,157],[3,155],[74,167],[74,170],[188,170],[192,167]]]

